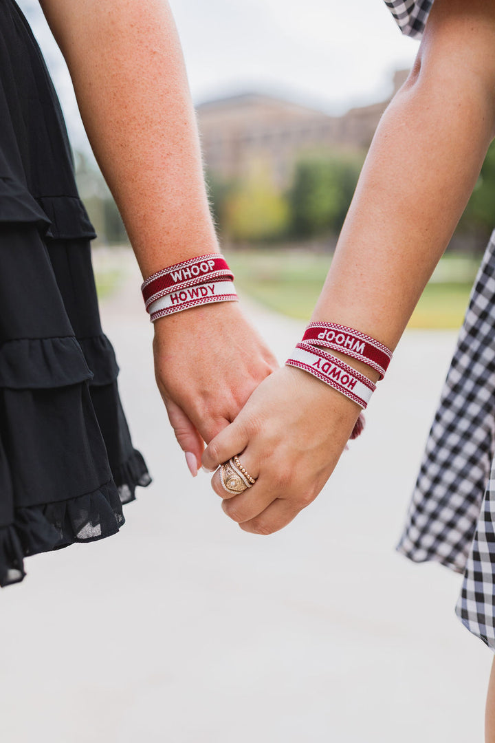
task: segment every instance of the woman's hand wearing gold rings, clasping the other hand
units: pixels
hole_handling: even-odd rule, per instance
[[[220,470],[214,473],[212,487],[227,516],[252,533],[286,526],[327,482],[359,412],[352,400],[301,369],[275,371],[203,454],[208,470],[238,454],[257,478],[249,490],[230,496]]]

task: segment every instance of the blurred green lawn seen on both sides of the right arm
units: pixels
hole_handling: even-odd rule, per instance
[[[243,250],[228,255],[240,291],[288,317],[309,319],[330,256],[302,250]],[[424,290],[410,328],[459,328],[478,262],[445,256]]]

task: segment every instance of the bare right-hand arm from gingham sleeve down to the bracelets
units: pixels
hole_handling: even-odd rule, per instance
[[[478,60],[466,34],[453,49],[451,35],[431,20],[421,65],[378,126],[313,316],[359,328],[391,348],[494,136],[493,54]],[[483,41],[477,34],[481,56]]]

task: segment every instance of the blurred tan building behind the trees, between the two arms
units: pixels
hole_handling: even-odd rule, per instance
[[[393,94],[407,74],[407,70],[396,72]],[[253,169],[263,169],[276,185],[286,186],[302,155],[367,149],[391,97],[351,108],[343,116],[261,94],[203,103],[197,115],[206,166],[222,181],[244,179]]]

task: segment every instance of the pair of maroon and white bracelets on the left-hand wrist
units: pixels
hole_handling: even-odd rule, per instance
[[[209,253],[168,266],[141,285],[151,322],[212,302],[235,302],[234,274],[223,256]]]

